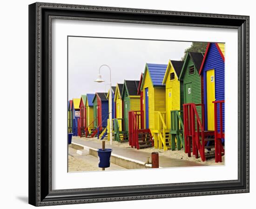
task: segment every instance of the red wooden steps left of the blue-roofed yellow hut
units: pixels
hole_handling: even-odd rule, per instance
[[[143,114],[142,114],[143,116]],[[154,146],[149,129],[141,129],[141,111],[129,111],[129,145],[136,149]]]

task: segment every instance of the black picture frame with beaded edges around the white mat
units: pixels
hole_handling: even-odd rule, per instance
[[[238,30],[238,179],[52,190],[51,20],[95,20]],[[29,5],[29,203],[35,206],[249,192],[249,16],[95,7]]]

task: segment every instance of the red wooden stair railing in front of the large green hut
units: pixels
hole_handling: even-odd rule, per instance
[[[201,106],[202,111],[202,123],[196,110],[196,106]],[[183,104],[184,113],[184,141],[185,152],[191,157],[191,141],[193,155],[198,158],[198,151],[200,153],[202,161],[205,161],[204,152],[204,106],[203,104]],[[200,138],[201,137],[201,138]]]

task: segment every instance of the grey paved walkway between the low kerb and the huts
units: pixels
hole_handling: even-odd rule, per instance
[[[81,144],[82,146],[87,146],[94,149],[101,148],[101,144],[99,144],[99,142],[85,141],[84,139],[82,140],[79,138],[72,138],[72,143]],[[150,157],[151,159],[151,153],[143,152],[134,148],[122,148],[122,147],[106,144],[106,149],[107,148],[112,149],[112,153],[116,155],[127,157],[133,160],[146,162],[148,157]],[[206,166],[206,165],[202,163],[187,161],[187,160],[159,156],[159,166],[162,168],[170,168],[170,167]]]

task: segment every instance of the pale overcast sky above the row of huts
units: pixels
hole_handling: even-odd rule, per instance
[[[102,79],[97,83],[99,67],[111,68],[111,83],[140,80],[146,63],[168,64],[181,60],[191,42],[68,37],[68,99],[82,94],[107,92],[109,70],[101,68]]]

